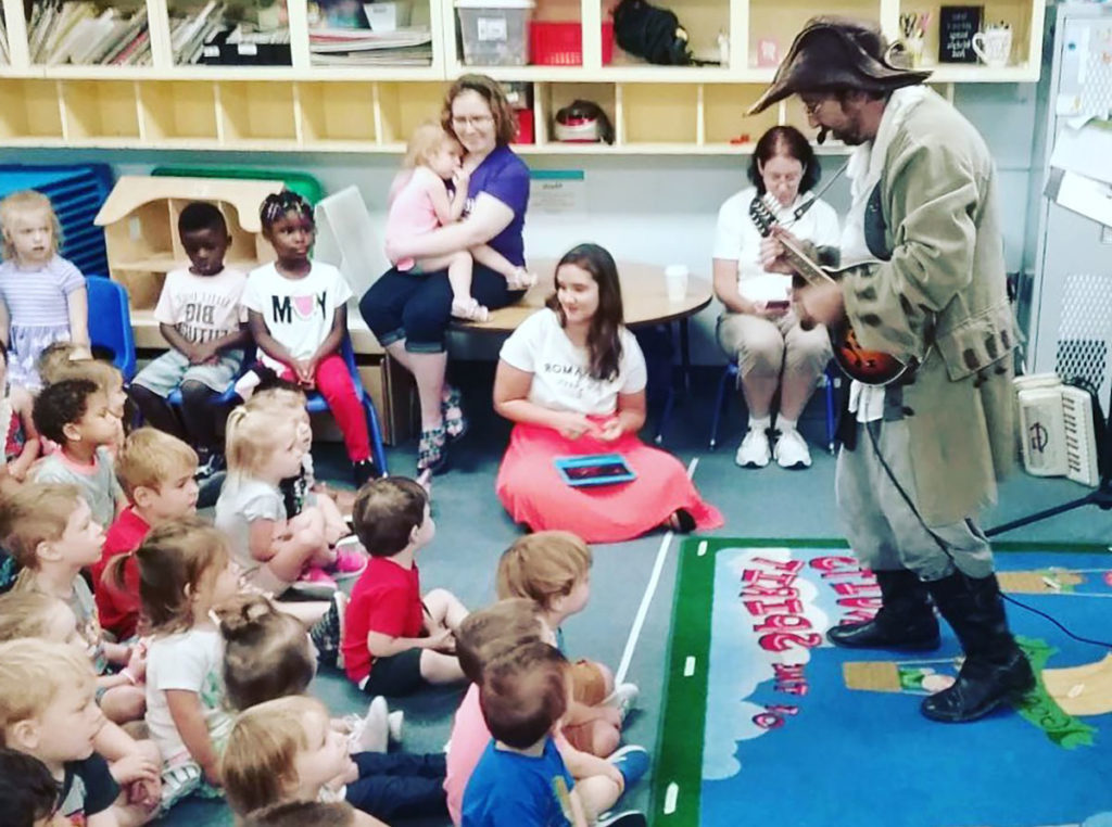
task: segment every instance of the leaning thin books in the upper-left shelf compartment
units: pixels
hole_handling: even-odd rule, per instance
[[[34,3],[28,27],[31,62],[141,66],[150,63],[147,6],[100,10],[96,2]]]

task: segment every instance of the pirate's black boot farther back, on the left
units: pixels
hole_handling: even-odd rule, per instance
[[[875,571],[881,587],[881,610],[872,620],[842,624],[826,632],[835,646],[847,649],[937,649],[939,621],[931,608],[926,584],[907,569]]]

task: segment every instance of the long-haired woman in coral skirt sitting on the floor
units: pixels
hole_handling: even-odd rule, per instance
[[[645,357],[623,325],[610,255],[580,245],[556,266],[556,292],[502,348],[495,410],[513,422],[495,490],[516,522],[588,542],[628,540],[658,526],[716,528],[683,465],[637,437],[645,424]],[[568,486],[557,457],[618,454],[628,482]]]

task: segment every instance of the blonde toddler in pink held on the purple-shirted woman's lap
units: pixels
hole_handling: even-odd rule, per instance
[[[463,147],[439,123],[423,123],[414,130],[404,169],[387,198],[386,255],[400,272],[425,276],[447,270],[451,285],[451,315],[469,321],[486,321],[490,311],[471,296],[474,262],[502,275],[510,290],[528,289],[536,283],[536,276],[524,267],[515,267],[488,245],[421,259],[398,259],[391,252],[395,242],[424,236],[463,217],[470,177],[460,166],[463,155]],[[446,185],[449,180],[453,182],[450,195]]]

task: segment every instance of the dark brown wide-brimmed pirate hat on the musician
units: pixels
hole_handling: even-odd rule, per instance
[[[880,29],[840,17],[815,17],[795,36],[776,77],[746,114],[800,92],[857,89],[891,92],[926,80],[930,72],[894,66]]]

